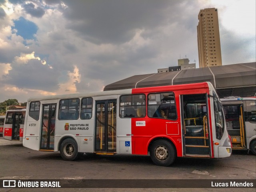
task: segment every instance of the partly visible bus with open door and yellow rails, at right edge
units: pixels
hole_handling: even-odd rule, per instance
[[[221,99],[232,148],[251,150],[256,155],[256,98]]]

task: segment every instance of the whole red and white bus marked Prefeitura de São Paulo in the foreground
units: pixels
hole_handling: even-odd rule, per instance
[[[169,166],[178,157],[222,158],[231,143],[211,83],[30,98],[23,146],[81,154],[138,154]]]

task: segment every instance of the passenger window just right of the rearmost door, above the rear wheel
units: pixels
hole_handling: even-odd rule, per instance
[[[80,106],[79,98],[60,100],[58,119],[59,120],[78,119],[79,106]]]

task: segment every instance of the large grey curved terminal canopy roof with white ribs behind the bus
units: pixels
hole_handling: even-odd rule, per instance
[[[134,75],[106,85],[104,91],[205,81],[212,83],[220,97],[254,96],[256,93],[256,62]]]

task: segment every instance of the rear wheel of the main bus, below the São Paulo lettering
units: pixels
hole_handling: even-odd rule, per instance
[[[74,139],[65,139],[60,144],[60,155],[64,160],[72,161],[78,157],[78,145]]]

